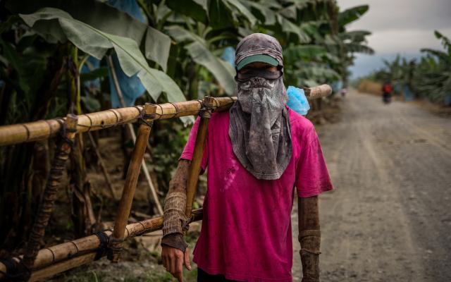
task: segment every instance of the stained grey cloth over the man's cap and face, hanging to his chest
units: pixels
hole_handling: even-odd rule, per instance
[[[259,39],[257,42],[252,40],[256,37]],[[259,53],[255,53],[256,48]],[[265,48],[268,50],[265,51]],[[243,52],[269,54],[283,66],[282,48],[275,38],[268,35],[245,37],[237,47],[237,58],[240,60],[246,58],[242,56]],[[239,61],[235,59],[235,65],[237,63]],[[229,125],[235,156],[257,179],[280,178],[292,155],[290,118],[285,107],[288,97],[283,76],[276,79],[254,76],[237,80],[237,98],[230,108]]]

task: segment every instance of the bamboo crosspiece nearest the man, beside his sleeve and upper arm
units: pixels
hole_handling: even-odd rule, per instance
[[[194,197],[196,197],[197,182],[199,180],[200,165],[202,161],[202,154],[204,153],[204,145],[206,139],[206,133],[209,127],[209,121],[211,118],[211,111],[213,109],[215,99],[213,97],[205,97],[202,105],[202,110],[199,112],[200,123],[197,130],[196,142],[194,144],[194,152],[192,153],[190,173],[187,181],[186,188],[186,209],[185,214],[188,219],[191,217],[192,203]]]

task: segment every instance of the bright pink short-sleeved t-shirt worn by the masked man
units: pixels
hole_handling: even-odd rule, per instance
[[[292,281],[294,188],[299,197],[311,197],[332,184],[314,125],[289,113],[292,158],[278,180],[252,176],[233,153],[228,111],[212,114],[202,157],[208,189],[193,259],[207,273],[235,281]],[[198,128],[199,118],[180,159],[192,158]]]

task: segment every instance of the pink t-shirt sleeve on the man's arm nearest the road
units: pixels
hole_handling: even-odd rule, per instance
[[[297,195],[299,197],[313,197],[332,190],[330,176],[324,161],[323,151],[318,135],[313,126],[304,137],[304,146],[297,163],[296,181]]]

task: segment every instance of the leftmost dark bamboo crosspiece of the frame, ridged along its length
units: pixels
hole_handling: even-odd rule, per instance
[[[61,145],[59,145],[58,150],[55,153],[49,178],[47,179],[47,185],[44,189],[44,195],[39,203],[37,217],[30,233],[30,239],[28,240],[25,256],[23,257],[23,265],[28,270],[31,270],[33,267],[41,240],[44,238],[45,228],[49,223],[50,216],[54,209],[56,193],[61,185],[63,170],[66,166],[66,161],[68,160],[70,149],[72,149],[75,139],[77,121],[78,117],[73,114],[68,114],[68,116],[66,116]]]

